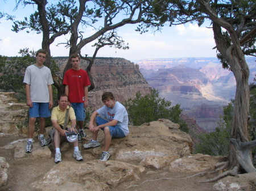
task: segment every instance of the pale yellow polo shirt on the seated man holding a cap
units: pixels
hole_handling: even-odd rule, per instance
[[[68,117],[68,127],[71,126],[71,120],[76,119],[75,111],[72,107],[67,106],[69,108],[69,117]],[[59,108],[59,105],[55,108],[52,109],[52,115],[51,115],[51,120],[57,120],[57,124],[64,126],[65,122],[65,114],[66,114],[67,109],[65,111],[62,111]]]

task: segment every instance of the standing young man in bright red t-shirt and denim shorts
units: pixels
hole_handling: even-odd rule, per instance
[[[76,120],[79,124],[79,141],[81,137],[86,137],[84,133],[85,109],[88,106],[88,86],[90,79],[85,70],[80,68],[79,54],[71,54],[70,61],[72,68],[64,74],[63,84],[65,85],[65,94],[68,95],[69,103],[76,114]]]

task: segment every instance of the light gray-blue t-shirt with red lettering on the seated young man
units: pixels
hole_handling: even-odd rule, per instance
[[[128,114],[125,107],[121,103],[118,101],[115,102],[113,108],[109,108],[104,105],[102,108],[98,109],[97,112],[102,118],[106,118],[108,121],[117,120],[117,126],[123,130],[125,136],[129,134]]]

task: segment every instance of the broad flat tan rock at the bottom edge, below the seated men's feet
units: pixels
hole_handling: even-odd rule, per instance
[[[144,167],[109,160],[93,160],[86,163],[61,162],[32,188],[42,191],[54,190],[110,190],[127,180],[138,179]]]

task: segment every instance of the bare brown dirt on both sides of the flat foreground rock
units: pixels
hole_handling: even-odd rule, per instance
[[[18,136],[3,136],[0,137],[0,147],[7,145],[12,141],[23,139]],[[12,191],[33,191],[30,184],[44,176],[54,165],[54,158],[51,159],[18,159],[14,160],[14,148],[1,149],[0,156],[5,157],[10,164],[9,176],[7,185],[0,190]],[[64,155],[65,156],[65,155]],[[73,158],[65,158],[72,160]],[[214,176],[214,175],[211,175]],[[208,191],[212,190],[214,183],[197,184],[199,180],[207,179],[206,176],[194,176],[192,173],[171,173],[168,168],[156,170],[148,169],[144,175],[138,178],[137,181],[122,182],[113,191],[144,191],[144,190],[171,190],[171,191]]]

